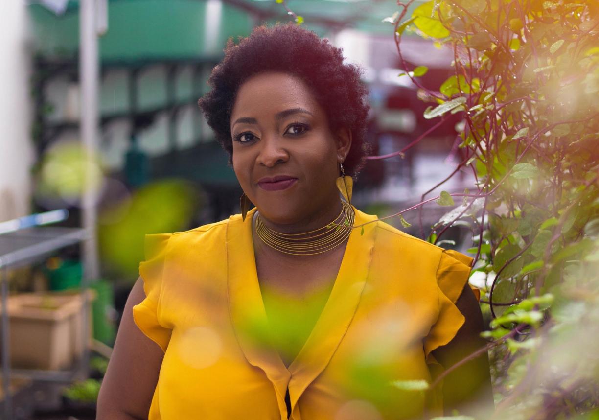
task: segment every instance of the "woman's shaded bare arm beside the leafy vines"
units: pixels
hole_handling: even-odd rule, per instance
[[[464,325],[451,342],[432,352],[435,359],[446,369],[487,344],[480,337],[484,329],[480,306],[468,284],[459,296],[456,306],[466,318]],[[443,407],[446,415],[458,410],[461,415],[476,414],[477,418],[483,418],[480,417],[481,411],[493,411],[489,356],[486,352],[443,378]]]

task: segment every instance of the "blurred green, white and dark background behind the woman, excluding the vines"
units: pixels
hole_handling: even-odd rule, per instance
[[[437,122],[423,119],[418,90],[398,77],[394,29],[383,22],[394,1],[286,6],[364,69],[373,155]],[[294,17],[276,0],[7,0],[0,10],[2,413],[94,418],[144,234],[239,212],[241,189],[196,104],[207,78],[228,38]],[[428,67],[423,86],[451,74],[452,52],[432,41],[406,34],[402,52]],[[382,217],[419,203],[462,160],[458,122],[448,118],[402,156],[368,161],[353,204]],[[443,188],[473,183],[464,173]],[[422,237],[444,211],[389,222]],[[460,229],[444,246],[463,250]]]

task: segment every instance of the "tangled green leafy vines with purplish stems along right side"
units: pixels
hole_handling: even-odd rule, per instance
[[[599,3],[434,0],[407,16],[413,2],[398,2],[386,21],[407,76],[432,103],[425,118],[439,119],[436,128],[448,114],[463,117],[453,174],[471,171],[477,191],[423,196],[394,216],[463,200],[429,241],[439,243],[454,223],[473,230],[473,273],[486,280],[482,309],[494,318],[485,336],[497,418],[592,418],[599,406]],[[453,75],[438,90],[420,83],[425,67],[404,60],[406,31],[452,50]]]

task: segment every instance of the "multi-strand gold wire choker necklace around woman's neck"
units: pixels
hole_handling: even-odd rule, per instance
[[[268,246],[290,255],[316,255],[342,244],[352,233],[355,214],[352,206],[341,200],[341,213],[331,223],[310,232],[285,234],[264,225],[260,213],[256,215],[256,232]]]

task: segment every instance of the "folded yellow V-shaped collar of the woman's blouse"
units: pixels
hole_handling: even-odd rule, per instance
[[[299,353],[286,367],[272,343],[259,345],[250,331],[267,328],[268,320],[258,281],[252,241],[252,217],[256,209],[231,216],[227,224],[229,311],[240,348],[247,361],[264,370],[279,394],[279,408],[286,418],[285,394],[289,388],[292,410],[308,385],[324,370],[349,327],[364,289],[374,246],[376,223],[353,229],[325,306]],[[354,209],[354,226],[376,219]],[[257,328],[257,330],[256,330]]]

